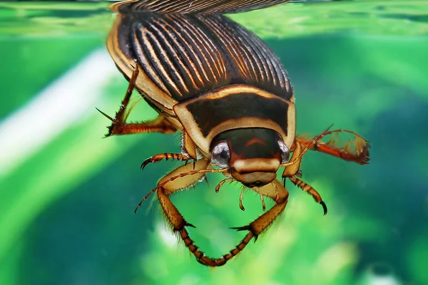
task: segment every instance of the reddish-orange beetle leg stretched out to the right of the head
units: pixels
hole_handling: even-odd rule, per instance
[[[332,138],[329,142],[320,142],[319,140],[324,138],[326,135],[331,133],[351,133],[355,135],[353,141],[347,142],[344,147],[337,147],[335,145],[335,138]],[[354,133],[350,130],[331,130],[327,133],[322,134],[321,138],[315,143],[312,143],[313,140],[302,138],[301,136],[296,138],[297,142],[300,142],[302,147],[308,147],[310,150],[316,150],[319,152],[326,153],[327,155],[332,155],[335,157],[342,158],[342,160],[357,162],[360,165],[365,165],[370,161],[370,143],[362,138],[357,133]],[[354,150],[352,150],[352,148]]]

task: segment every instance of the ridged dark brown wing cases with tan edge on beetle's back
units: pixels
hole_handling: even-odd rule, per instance
[[[222,15],[119,14],[108,49],[124,74],[138,61],[151,84],[176,101],[243,83],[290,100],[292,86],[275,53]],[[122,64],[121,62],[122,61]],[[146,83],[137,88],[151,98]]]

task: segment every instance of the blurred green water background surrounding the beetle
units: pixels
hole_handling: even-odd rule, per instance
[[[102,139],[127,83],[104,49],[105,3],[0,3],[0,284],[428,284],[428,1],[285,4],[231,16],[277,53],[295,88],[298,133],[328,125],[372,144],[370,165],[315,152],[305,182],[327,216],[288,185],[285,214],[211,271],[140,199],[178,164],[179,135]],[[85,65],[86,64],[86,65]],[[132,115],[155,113],[140,103]],[[239,185],[173,201],[195,242],[219,257],[228,227],[262,213]],[[272,205],[272,203],[270,203]],[[376,283],[378,282],[378,283]]]

